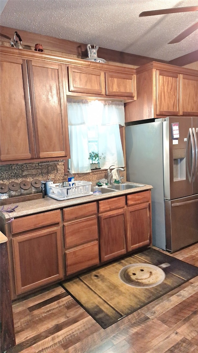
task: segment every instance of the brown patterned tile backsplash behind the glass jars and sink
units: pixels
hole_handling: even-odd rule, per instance
[[[10,183],[10,181],[21,180],[51,180],[54,183],[62,183],[68,178],[68,173],[64,172],[64,162],[40,162],[40,163],[20,163],[20,164],[3,164],[0,167],[0,182]],[[107,178],[107,171],[98,169],[91,173],[74,174],[75,180],[97,181]]]

